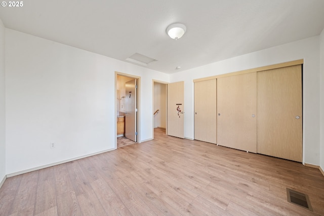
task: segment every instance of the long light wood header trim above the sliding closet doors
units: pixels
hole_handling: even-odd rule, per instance
[[[231,72],[231,73],[227,73],[227,74],[215,75],[215,76],[212,76],[212,77],[199,78],[199,79],[193,80],[193,82],[199,82],[199,81],[205,81],[205,80],[213,80],[213,79],[217,79],[217,78],[221,78],[221,77],[230,77],[230,76],[240,75],[240,74],[249,74],[249,73],[252,73],[252,72],[276,69],[276,68],[280,68],[280,67],[294,66],[294,65],[303,64],[303,63],[304,63],[304,59],[299,59],[299,60],[288,61],[288,62],[279,63],[279,64],[272,64],[272,65],[256,67],[256,68],[251,68],[251,69],[246,69],[246,70],[239,70],[239,71],[235,71],[235,72]]]

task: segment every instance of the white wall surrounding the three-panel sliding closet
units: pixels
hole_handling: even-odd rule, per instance
[[[193,79],[231,73],[276,63],[304,59],[303,65],[303,149],[304,162],[319,165],[319,37],[284,44],[226,59],[170,76],[170,82],[184,81],[184,135],[193,137]]]

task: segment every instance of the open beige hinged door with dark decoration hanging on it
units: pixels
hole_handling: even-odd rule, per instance
[[[167,134],[184,138],[184,82],[168,84]]]

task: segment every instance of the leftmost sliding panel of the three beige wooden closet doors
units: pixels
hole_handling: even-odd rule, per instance
[[[194,83],[194,139],[217,141],[217,80]]]

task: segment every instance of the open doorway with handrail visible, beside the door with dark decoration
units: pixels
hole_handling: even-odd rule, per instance
[[[153,81],[153,134],[166,134],[167,83]]]

